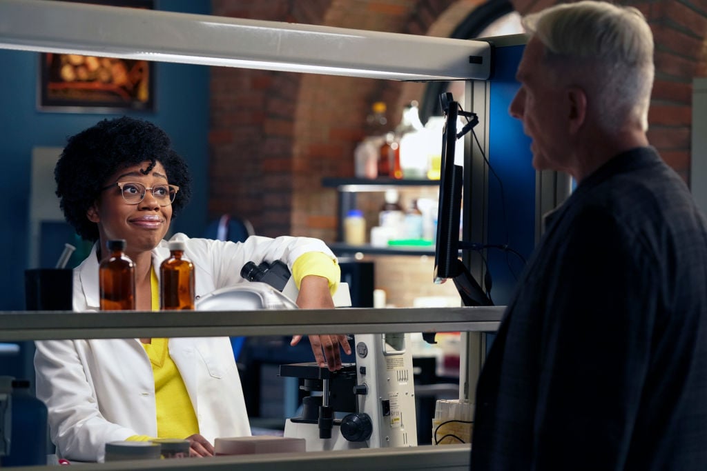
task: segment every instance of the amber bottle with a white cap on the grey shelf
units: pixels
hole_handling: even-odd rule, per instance
[[[160,265],[160,309],[194,309],[194,263],[184,257],[183,241],[170,241],[169,248]]]

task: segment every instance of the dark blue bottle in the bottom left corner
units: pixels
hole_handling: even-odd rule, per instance
[[[10,454],[2,466],[47,464],[47,406],[30,392],[30,381],[12,381]]]

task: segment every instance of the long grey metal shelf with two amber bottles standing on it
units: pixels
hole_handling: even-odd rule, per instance
[[[503,306],[259,311],[4,311],[0,341],[322,333],[493,332]]]

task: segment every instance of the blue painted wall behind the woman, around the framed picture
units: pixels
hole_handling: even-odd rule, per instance
[[[209,14],[209,1],[159,0],[156,9]],[[0,49],[0,311],[24,309],[23,271],[28,266],[32,148],[63,147],[66,138],[120,114],[48,113],[37,110],[37,53]],[[172,138],[192,170],[192,201],[173,223],[174,232],[200,236],[208,198],[209,68],[156,64],[156,111],[129,112],[153,121]],[[61,253],[65,240],[47,244]],[[50,251],[51,252],[51,251]],[[73,264],[73,259],[72,259]],[[53,265],[52,265],[53,266]]]

